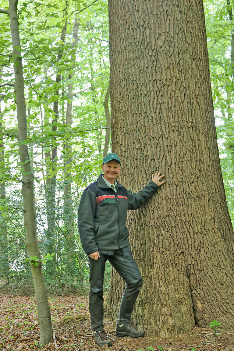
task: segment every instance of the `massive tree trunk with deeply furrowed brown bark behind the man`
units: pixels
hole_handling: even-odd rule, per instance
[[[134,321],[169,336],[233,327],[233,229],[222,181],[203,4],[109,0],[112,148],[120,182],[137,192],[161,170],[166,182],[128,217],[143,277]],[[116,318],[115,273],[105,306]]]

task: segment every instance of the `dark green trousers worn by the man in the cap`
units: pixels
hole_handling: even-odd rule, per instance
[[[98,260],[89,257],[89,312],[94,331],[103,329],[103,278],[107,260],[126,283],[116,323],[123,324],[131,320],[133,306],[142,286],[142,277],[131,250],[127,248],[124,251],[115,250],[113,255],[100,253]]]

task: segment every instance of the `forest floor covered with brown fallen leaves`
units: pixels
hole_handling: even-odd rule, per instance
[[[115,323],[105,319],[105,330],[113,339],[112,347],[95,344],[88,311],[88,298],[84,296],[49,297],[54,340],[42,351],[234,351],[234,333],[221,331],[214,338],[208,328],[195,327],[188,333],[172,338],[144,338],[115,336]],[[39,326],[35,298],[30,296],[0,295],[0,350],[38,350]]]

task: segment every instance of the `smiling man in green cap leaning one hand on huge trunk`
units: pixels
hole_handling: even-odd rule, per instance
[[[89,256],[89,311],[95,341],[99,346],[111,346],[103,330],[103,276],[108,260],[125,280],[126,287],[120,302],[116,336],[142,337],[143,329],[131,324],[131,314],[142,286],[142,277],[132,258],[127,241],[127,210],[136,210],[164,183],[161,172],[152,174],[152,181],[134,194],[116,181],[121,162],[118,155],[109,153],[103,159],[98,179],[83,192],[78,209],[78,225],[83,250]]]

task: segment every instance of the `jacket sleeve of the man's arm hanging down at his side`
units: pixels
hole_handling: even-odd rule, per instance
[[[81,195],[78,208],[78,227],[83,250],[90,255],[98,251],[94,240],[94,214],[96,209],[95,194],[86,189]]]

